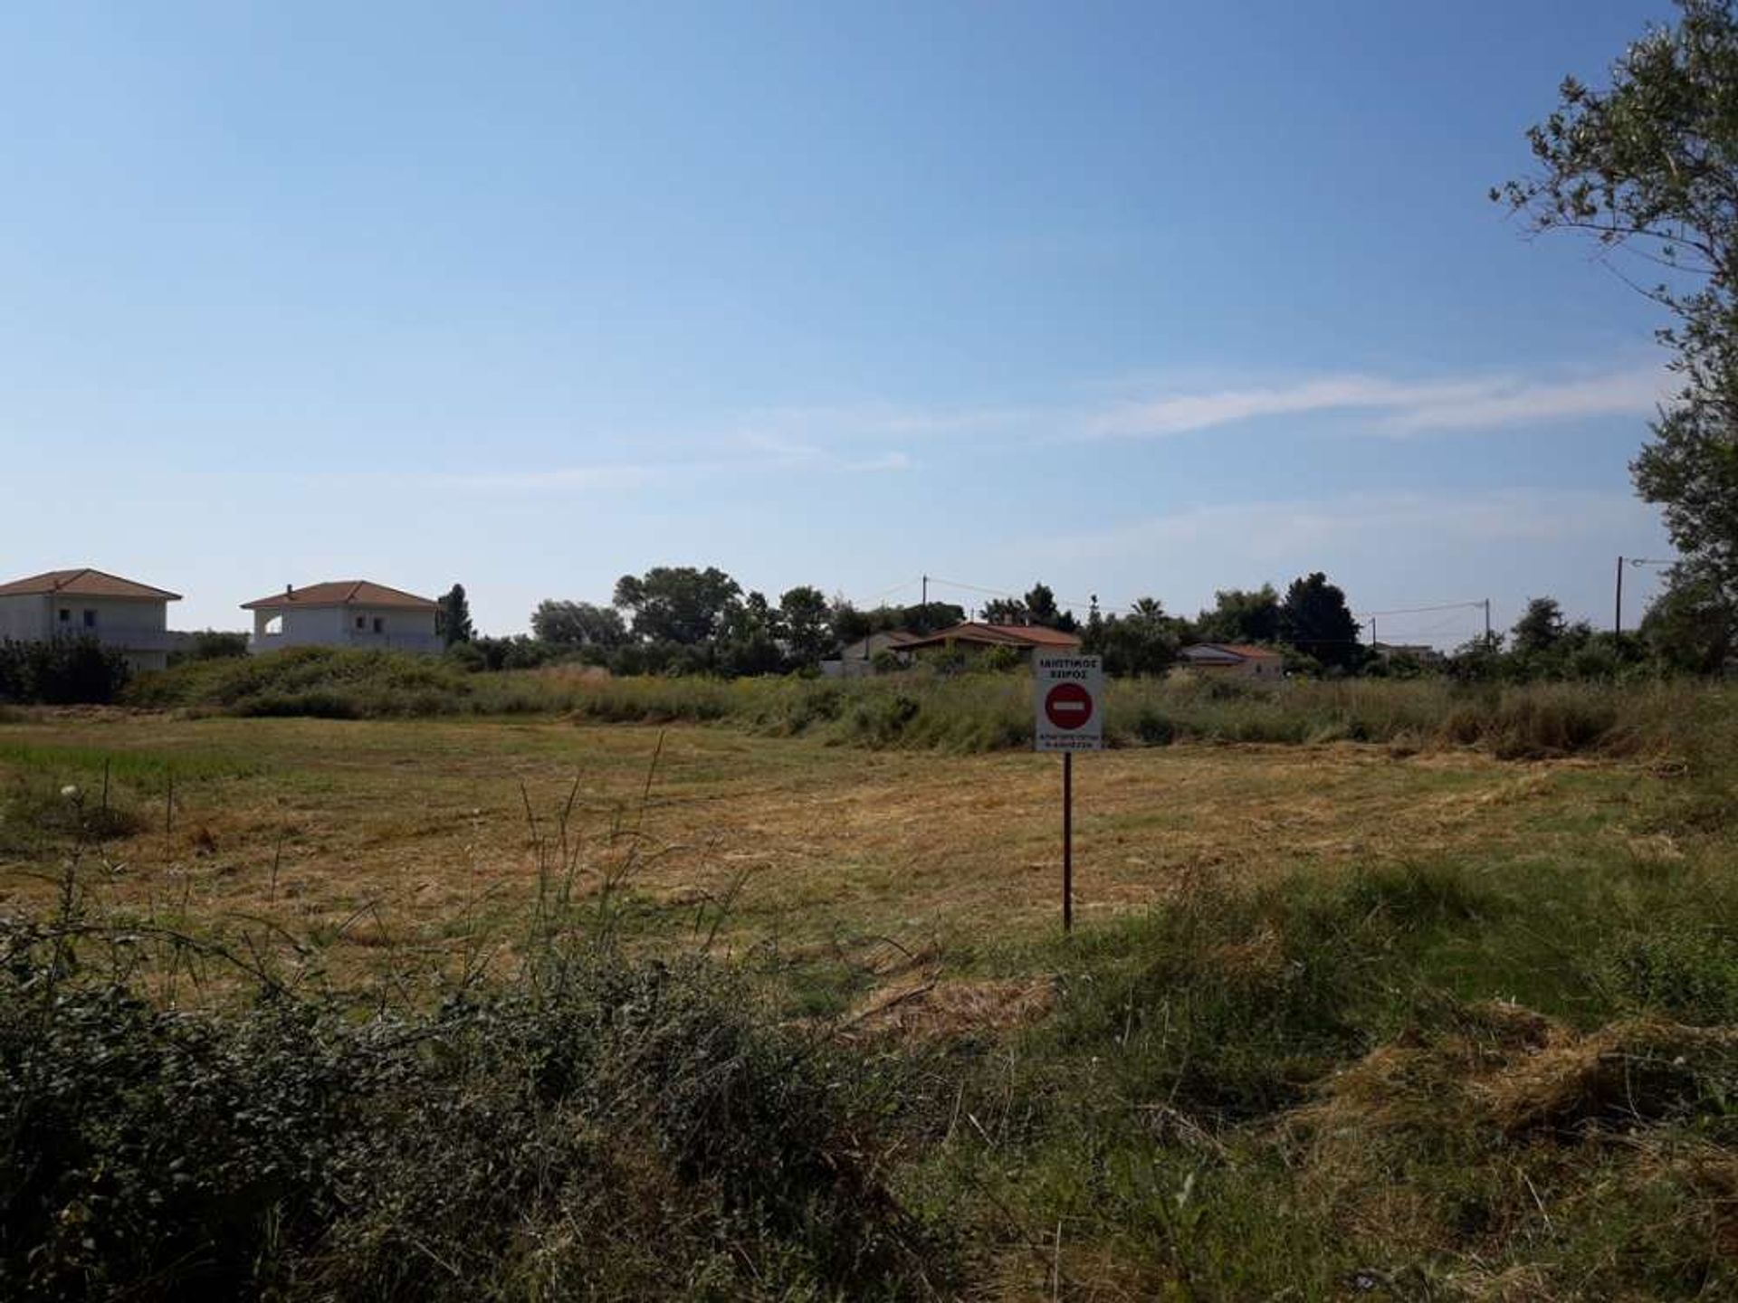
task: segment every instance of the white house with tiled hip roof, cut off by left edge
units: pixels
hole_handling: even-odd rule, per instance
[[[163,669],[174,646],[172,601],[181,594],[104,570],[50,570],[0,584],[0,639],[96,638],[122,652],[134,669]]]

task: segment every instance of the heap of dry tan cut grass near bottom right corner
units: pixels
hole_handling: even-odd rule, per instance
[[[1651,1254],[1635,1270],[1672,1280],[1702,1279],[1738,1244],[1738,1159],[1700,1138],[1735,1067],[1738,1030],[1649,1020],[1578,1034],[1481,1004],[1364,1055],[1283,1131],[1300,1141],[1305,1200],[1343,1234],[1396,1261],[1486,1260],[1455,1279],[1462,1296],[1568,1298],[1543,1286],[1566,1235],[1587,1253]],[[1670,1244],[1651,1230],[1662,1218],[1681,1232]]]

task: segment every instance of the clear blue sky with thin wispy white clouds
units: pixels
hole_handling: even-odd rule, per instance
[[[1667,14],[9,5],[0,570],[1606,622],[1660,320],[1486,191]]]

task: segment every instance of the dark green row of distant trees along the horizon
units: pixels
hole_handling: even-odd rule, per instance
[[[874,632],[935,632],[959,624],[966,608],[930,601],[859,608],[801,584],[777,601],[716,566],[653,566],[622,575],[608,605],[546,599],[532,632],[478,636],[464,587],[440,599],[438,627],[448,655],[471,669],[530,669],[558,660],[601,665],[615,674],[787,674],[813,671],[843,646]],[[1058,606],[1043,582],[1018,598],[994,598],[975,612],[987,624],[1043,625],[1078,632],[1081,648],[1102,655],[1118,676],[1164,674],[1191,643],[1276,648],[1291,674],[1462,679],[1613,678],[1630,672],[1715,672],[1731,653],[1731,627],[1688,585],[1670,587],[1632,634],[1568,622],[1554,598],[1535,598],[1505,634],[1479,636],[1453,653],[1380,648],[1364,643],[1345,591],[1326,573],[1222,589],[1197,615],[1173,615],[1158,598],[1104,612],[1097,598],[1085,620]]]

